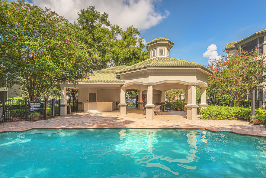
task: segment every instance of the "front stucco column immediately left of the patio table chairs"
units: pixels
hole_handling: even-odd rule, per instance
[[[146,107],[146,119],[152,120],[153,119],[153,85],[148,85],[147,90],[147,104]]]

